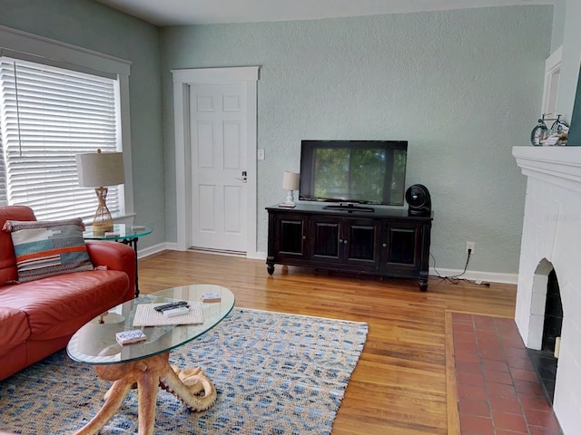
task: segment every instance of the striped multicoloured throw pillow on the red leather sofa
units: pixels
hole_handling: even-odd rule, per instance
[[[20,283],[94,268],[84,244],[81,218],[7,220],[3,229],[12,237]]]

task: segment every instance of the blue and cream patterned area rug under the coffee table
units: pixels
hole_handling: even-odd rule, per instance
[[[368,325],[234,308],[171,353],[181,368],[201,366],[218,391],[208,411],[189,411],[158,393],[155,434],[328,434]],[[93,418],[110,382],[64,351],[0,382],[0,429],[72,433]],[[137,433],[137,391],[101,434]]]

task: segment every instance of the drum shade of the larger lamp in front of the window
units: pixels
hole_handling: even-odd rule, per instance
[[[125,182],[123,152],[89,152],[76,155],[79,186],[98,188]]]

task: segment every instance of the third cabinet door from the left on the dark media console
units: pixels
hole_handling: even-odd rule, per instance
[[[375,268],[379,265],[379,222],[345,219],[342,235],[346,264]]]

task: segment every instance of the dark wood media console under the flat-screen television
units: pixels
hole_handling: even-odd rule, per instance
[[[274,265],[419,279],[428,289],[430,216],[407,209],[326,208],[328,204],[273,206],[269,213],[269,275]],[[371,208],[371,210],[369,210]]]

